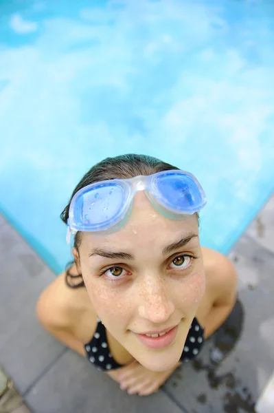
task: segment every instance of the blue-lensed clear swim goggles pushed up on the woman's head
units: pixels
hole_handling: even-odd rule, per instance
[[[80,189],[72,198],[67,221],[67,244],[71,233],[91,231],[112,233],[128,219],[137,191],[145,191],[152,205],[165,217],[182,220],[200,211],[207,200],[192,173],[174,169],[95,182]]]

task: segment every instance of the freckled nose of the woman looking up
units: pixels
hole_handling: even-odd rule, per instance
[[[163,324],[174,313],[174,304],[167,288],[158,276],[146,277],[141,283],[139,316],[155,324]]]

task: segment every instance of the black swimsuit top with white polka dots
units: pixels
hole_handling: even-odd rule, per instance
[[[196,318],[194,318],[187,339],[185,340],[185,346],[180,361],[192,360],[196,357],[198,352],[200,352],[203,342],[205,341],[203,332],[203,328],[198,324]],[[109,351],[109,345],[106,339],[106,328],[103,326],[100,319],[98,319],[98,325],[94,336],[84,347],[89,361],[94,364],[98,370],[107,371],[123,367],[121,364],[116,363]]]

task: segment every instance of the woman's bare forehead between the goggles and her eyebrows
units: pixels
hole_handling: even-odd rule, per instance
[[[89,248],[108,246],[126,251],[148,248],[150,245],[165,246],[189,233],[198,233],[196,215],[184,220],[170,220],[152,206],[142,191],[135,195],[130,217],[119,231],[107,235],[83,233],[81,245]]]

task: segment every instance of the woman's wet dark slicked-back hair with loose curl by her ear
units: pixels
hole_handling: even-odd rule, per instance
[[[98,164],[94,165],[89,169],[89,171],[82,177],[76,188],[74,189],[67,207],[62,211],[60,218],[65,224],[69,218],[69,206],[73,196],[83,187],[94,182],[100,182],[102,180],[111,179],[127,179],[134,178],[139,175],[152,175],[152,173],[157,173],[161,171],[170,171],[171,169],[179,169],[170,165],[162,160],[153,158],[152,156],[146,155],[136,155],[134,153],[129,153],[127,155],[115,156],[115,158],[106,158]],[[198,214],[197,214],[198,216]],[[81,231],[78,231],[74,237],[74,248],[79,251],[78,248],[81,243]],[[81,281],[79,284],[75,284],[74,280],[81,278],[82,275],[73,275],[69,272],[71,264],[69,262],[66,267],[66,283],[71,288],[78,288],[84,286],[84,282]],[[76,263],[77,266],[77,263]]]

